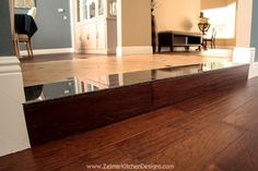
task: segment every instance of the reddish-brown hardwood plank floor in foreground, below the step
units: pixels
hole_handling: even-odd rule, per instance
[[[96,163],[176,171],[258,171],[258,78],[0,158],[1,171],[89,170]]]

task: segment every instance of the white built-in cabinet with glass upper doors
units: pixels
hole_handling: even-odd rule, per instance
[[[116,0],[77,0],[75,52],[116,53]]]

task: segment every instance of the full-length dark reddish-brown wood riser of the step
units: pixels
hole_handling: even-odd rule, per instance
[[[119,122],[204,91],[245,84],[249,65],[24,105],[32,146]]]

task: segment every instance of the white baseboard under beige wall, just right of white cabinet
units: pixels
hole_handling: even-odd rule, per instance
[[[117,47],[117,57],[137,56],[137,54],[152,54],[152,47],[151,46]]]

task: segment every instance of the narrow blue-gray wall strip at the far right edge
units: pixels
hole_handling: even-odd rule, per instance
[[[256,62],[258,62],[258,0],[253,0],[251,37],[250,46],[256,48]]]

